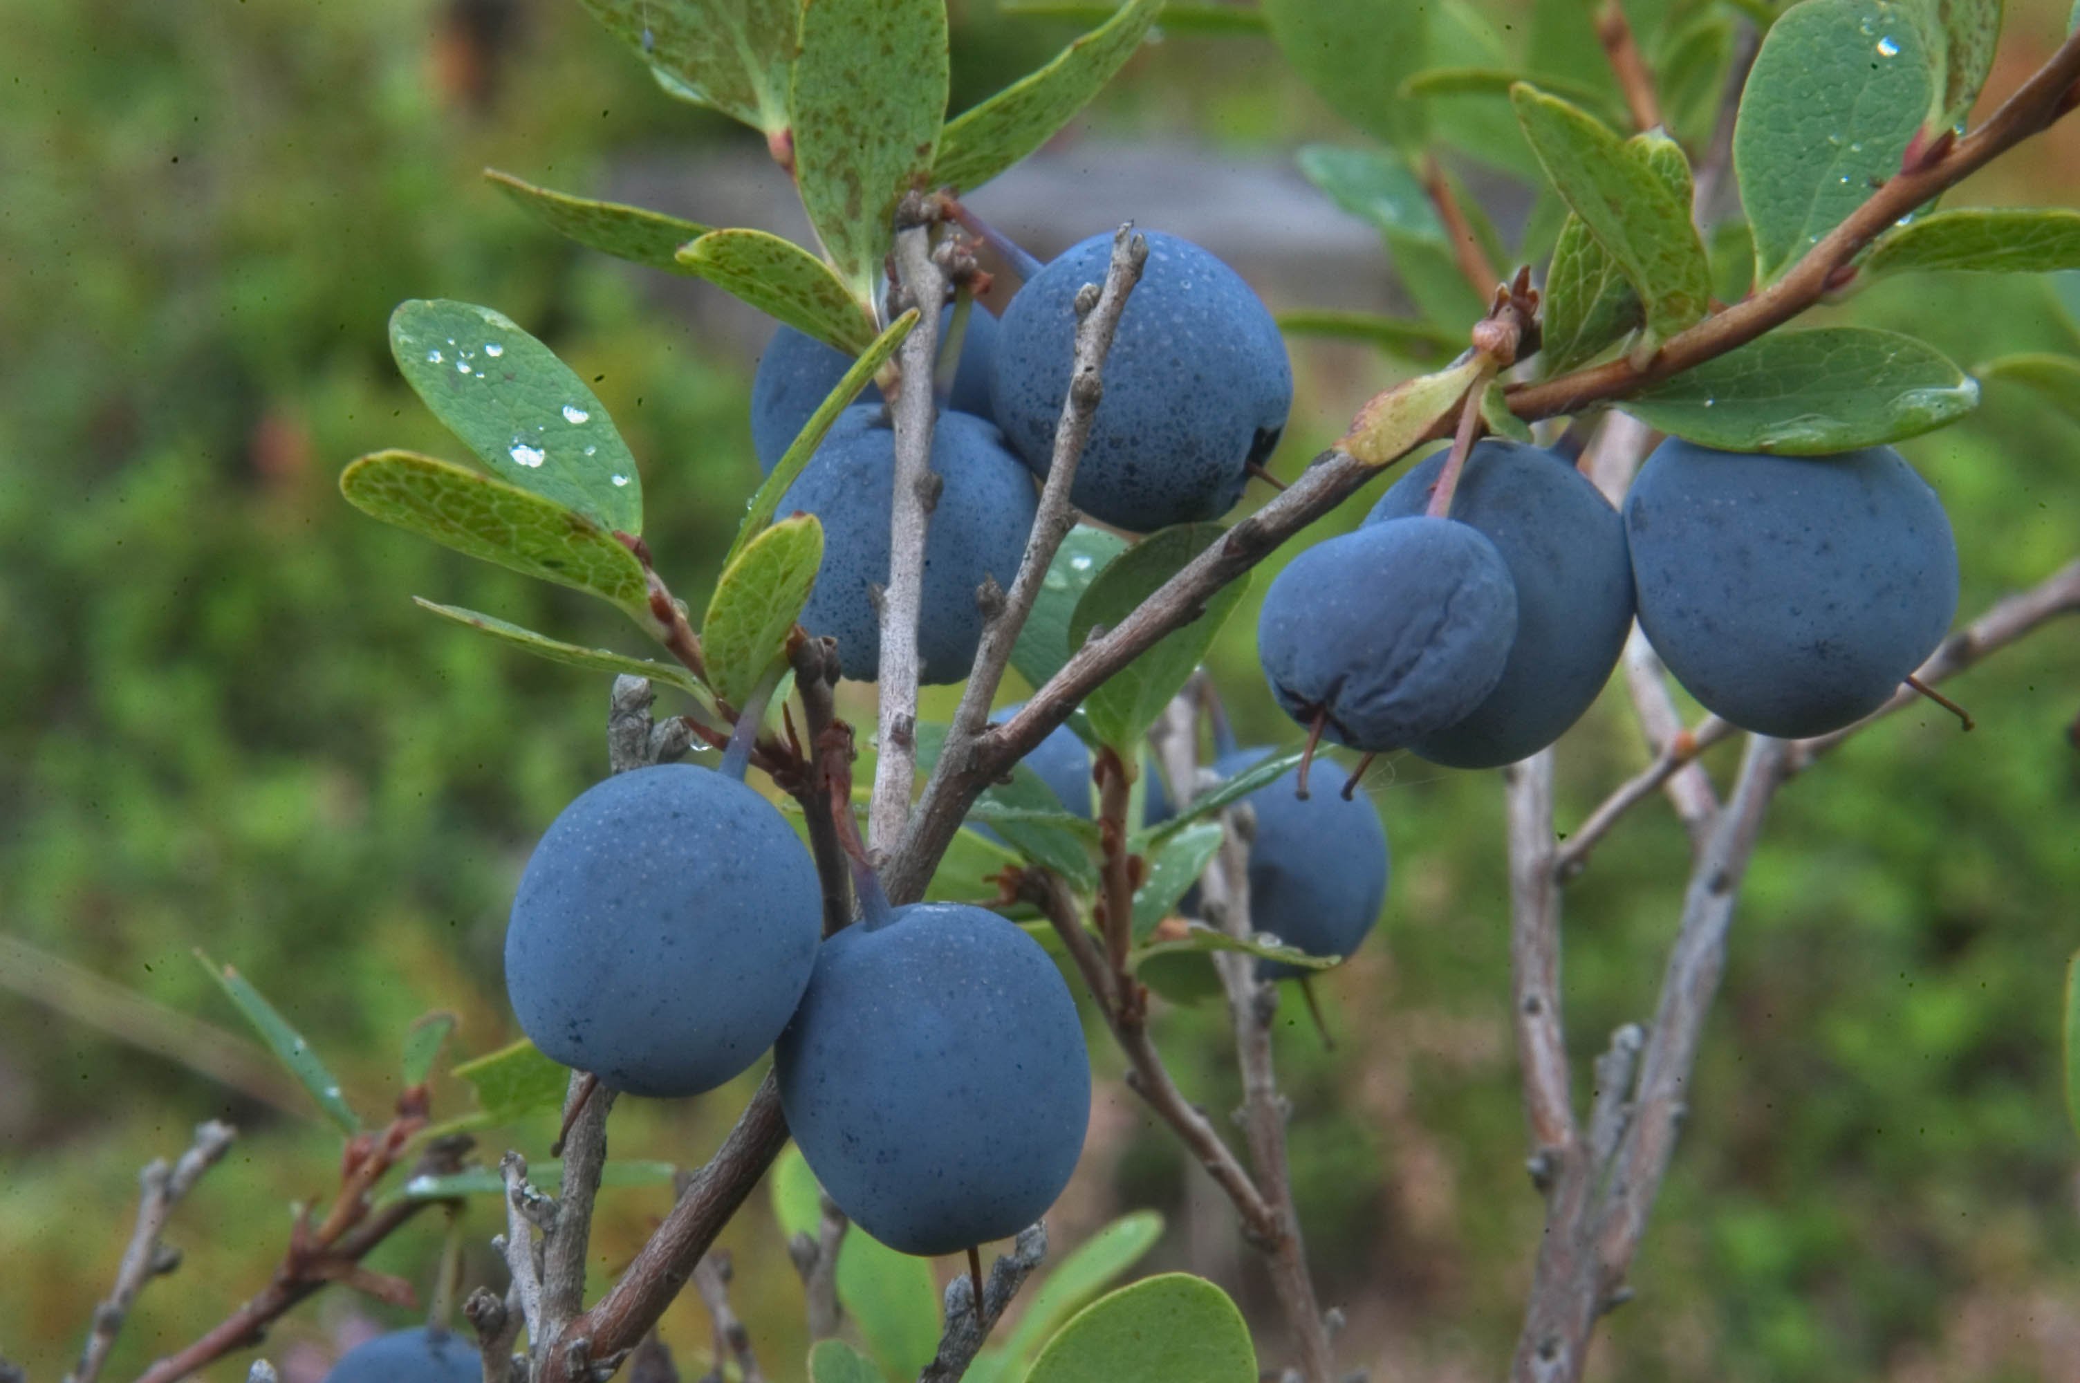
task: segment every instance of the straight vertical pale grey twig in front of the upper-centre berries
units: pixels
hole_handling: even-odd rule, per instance
[[[878,676],[880,755],[874,761],[874,805],[867,809],[867,844],[884,855],[903,836],[917,780],[917,620],[924,609],[926,530],[938,482],[932,472],[932,364],[938,360],[938,306],[946,299],[946,275],[932,258],[928,216],[899,216],[894,266],[896,285],[917,306],[917,324],[903,339],[905,387],[894,399],[896,468]]]

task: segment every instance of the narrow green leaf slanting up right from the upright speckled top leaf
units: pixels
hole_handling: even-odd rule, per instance
[[[1125,67],[1161,8],[1163,0],[1127,0],[1052,62],[948,121],[932,185],[973,191],[1046,143]]]

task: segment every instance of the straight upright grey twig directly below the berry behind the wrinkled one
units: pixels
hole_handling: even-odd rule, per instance
[[[1554,880],[1554,753],[1502,769],[1510,817],[1510,973],[1516,1061],[1535,1167],[1575,1144],[1560,1023],[1560,886]]]

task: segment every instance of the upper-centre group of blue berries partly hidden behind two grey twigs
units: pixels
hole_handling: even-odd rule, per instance
[[[1104,362],[1104,399],[1077,464],[1071,503],[1115,528],[1150,532],[1219,518],[1250,468],[1271,455],[1292,406],[1292,366],[1271,312],[1242,277],[1198,245],[1150,231],[1142,281]],[[1003,320],[967,312],[951,393],[940,401],[932,470],[940,491],[926,547],[919,676],[957,682],[982,638],[976,589],[1009,586],[1032,534],[1036,482],[1075,354],[1075,295],[1102,283],[1113,237],[1094,235],[1028,279]],[[951,327],[951,310],[940,327]],[[770,472],[851,366],[782,327],[751,385],[751,435]],[[878,389],[847,410],[780,512],[815,514],[824,566],[803,628],[838,641],[844,676],[880,674],[874,586],[888,580],[894,430]]]

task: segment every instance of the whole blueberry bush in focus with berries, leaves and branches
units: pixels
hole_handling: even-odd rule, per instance
[[[395,370],[472,462],[370,451],[343,470],[345,501],[603,601],[653,647],[420,601],[612,686],[609,776],[539,826],[512,901],[503,982],[526,1040],[443,1067],[456,1019],[428,1015],[401,1036],[393,1111],[364,1123],[260,988],[204,957],[337,1125],[341,1185],[297,1208],[254,1296],[139,1383],[193,1377],[335,1285],[416,1302],[364,1258],[428,1206],[451,1225],[428,1325],[331,1379],[676,1379],[655,1331],[693,1287],[709,1377],[751,1383],[759,1341],[718,1235],[761,1185],[811,1337],[780,1377],[1346,1377],[1337,1337],[1362,1304],[1335,1300],[1308,1252],[1290,1138],[1308,1090],[1290,1069],[1281,1088],[1275,1056],[1308,1036],[1294,1007],[1333,1038],[1315,977],[1367,944],[1408,873],[1367,792],[1400,751],[1500,769],[1543,1229],[1496,1356],[1525,1383],[1585,1377],[1600,1321],[1654,1287],[1635,1262],[1772,801],[1924,699],[1970,730],[1934,684],[2080,609],[2080,557],[2061,551],[1959,622],[1961,545],[1893,449],[1982,393],[2070,408],[2080,354],[1968,372],[1857,306],[1895,277],[2080,270],[2080,212],[1947,202],[2080,106],[2080,35],[1982,100],[1999,0],[1554,0],[1520,60],[1458,8],[1125,0],[1069,6],[1090,8],[1088,33],[946,119],[944,0],[584,8],[657,100],[757,131],[809,243],[487,179],[587,254],[774,318],[740,428],[740,472],[755,460],[763,478],[699,497],[734,520],[713,543],[645,534],[647,491],[674,476],[609,416],[603,376],[493,306],[395,308]],[[965,202],[1163,31],[1267,37],[1369,139],[1312,146],[1302,171],[1381,231],[1414,316],[1275,318],[1136,208],[1092,208],[1092,233],[1040,262]],[[1527,220],[1504,237],[1454,164],[1527,187]],[[1396,366],[1281,482],[1288,335],[1371,341]],[[1389,468],[1362,522],[1315,530]],[[1252,482],[1275,495],[1229,522]],[[1215,638],[1273,553],[1260,676],[1238,684]],[[1028,695],[998,707],[1013,674]],[[1649,763],[1560,832],[1556,753],[1614,680]],[[1225,699],[1242,695],[1269,695],[1290,742],[1238,749]],[[1726,740],[1733,763],[1710,755]],[[1331,745],[1358,759],[1331,769]],[[1662,842],[1687,884],[1656,938],[1660,990],[1570,1034],[1562,888],[1660,797],[1689,836],[1687,857]],[[1179,1054],[1179,1034],[1200,1042]],[[1146,1210],[1050,1246],[1094,1046],[1204,1169],[1269,1319],[1190,1273],[1119,1285],[1161,1231]],[[703,1163],[609,1158],[624,1098],[718,1098],[768,1052]],[[1233,1131],[1188,1094],[1208,1063],[1240,1088]],[[435,1111],[437,1075],[474,1108]],[[478,1156],[528,1121],[555,1125],[551,1158]],[[81,1383],[171,1271],[160,1231],[229,1140],[204,1125],[146,1171]],[[595,1219],[618,1190],[666,1183],[670,1210],[595,1283]],[[470,1258],[464,1210],[485,1198],[493,1254]],[[942,1296],[921,1256],[959,1260]]]

